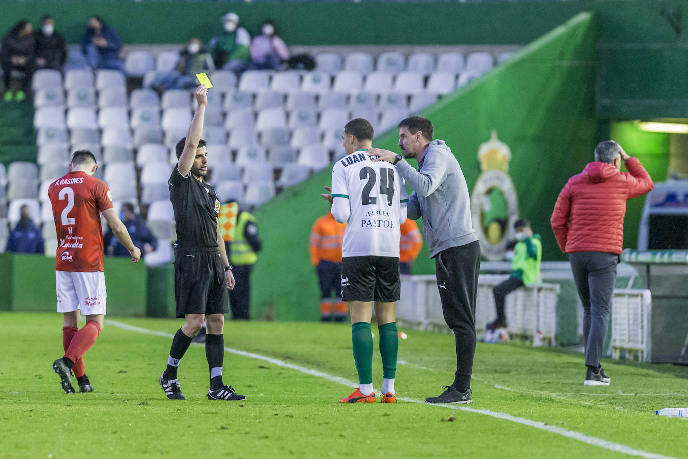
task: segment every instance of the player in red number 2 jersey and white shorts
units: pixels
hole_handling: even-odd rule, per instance
[[[93,392],[83,363],[83,354],[103,329],[105,276],[103,275],[103,230],[100,214],[115,237],[136,263],[141,250],[133,245],[127,227],[112,208],[107,185],[93,174],[98,169],[93,153],[74,152],[69,173],[47,190],[55,220],[58,247],[55,263],[57,312],[63,313],[62,344],[65,356],[52,363],[65,394],[73,394],[72,371],[79,392]],[[86,325],[78,329],[80,314]]]

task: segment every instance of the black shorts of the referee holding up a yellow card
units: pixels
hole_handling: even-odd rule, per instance
[[[229,312],[224,266],[217,248],[178,250],[174,263],[177,317]]]

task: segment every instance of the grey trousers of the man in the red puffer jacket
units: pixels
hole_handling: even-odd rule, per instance
[[[568,259],[578,296],[583,303],[585,365],[598,367],[604,352],[619,255],[607,252],[573,252],[568,254]]]

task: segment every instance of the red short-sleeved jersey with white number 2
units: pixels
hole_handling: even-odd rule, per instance
[[[112,208],[107,185],[84,172],[70,172],[47,189],[57,232],[55,269],[102,271],[100,213]]]

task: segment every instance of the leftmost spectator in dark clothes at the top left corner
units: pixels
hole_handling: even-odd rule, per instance
[[[31,81],[31,65],[34,59],[34,36],[31,23],[25,19],[17,21],[10,32],[2,39],[0,45],[0,67],[3,72],[3,84],[6,102],[26,98],[25,91]],[[14,93],[14,94],[13,94]]]

